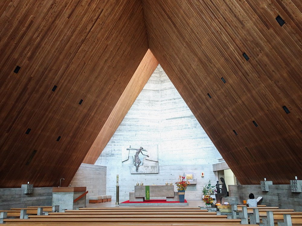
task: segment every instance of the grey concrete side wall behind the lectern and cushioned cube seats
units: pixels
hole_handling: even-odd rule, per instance
[[[71,187],[86,187],[89,196],[106,194],[107,167],[82,163],[71,181]]]

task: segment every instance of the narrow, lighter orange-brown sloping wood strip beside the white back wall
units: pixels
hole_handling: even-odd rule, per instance
[[[148,50],[114,109],[111,111],[111,114],[98,134],[98,137],[89,149],[83,163],[95,164],[115,130],[117,130],[117,127],[123,121],[125,115],[137,99],[137,96],[153,74],[157,65],[158,62],[156,58],[153,56],[152,52]]]

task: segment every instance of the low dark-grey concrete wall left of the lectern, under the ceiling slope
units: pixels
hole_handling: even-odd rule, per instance
[[[0,188],[0,210],[51,206],[52,190],[52,187],[36,187],[33,194],[24,194],[23,188]]]

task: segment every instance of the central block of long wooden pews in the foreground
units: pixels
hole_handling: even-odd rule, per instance
[[[112,207],[80,208],[65,212],[49,212],[48,215],[28,215],[28,219],[4,219],[8,225],[144,225],[182,226],[227,225],[239,226],[240,219],[227,219],[207,209],[196,207]]]

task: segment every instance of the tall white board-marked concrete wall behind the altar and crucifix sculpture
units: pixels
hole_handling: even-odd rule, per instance
[[[129,145],[158,145],[159,173],[130,174],[129,164],[122,166],[121,162],[122,147]],[[202,186],[209,179],[216,184],[212,164],[219,158],[221,155],[159,65],[95,164],[107,166],[107,194],[112,199],[119,174],[120,202],[129,199],[137,182],[175,183],[179,175],[190,172],[197,184],[188,188],[185,198],[201,199]]]

